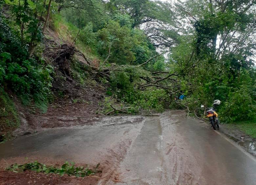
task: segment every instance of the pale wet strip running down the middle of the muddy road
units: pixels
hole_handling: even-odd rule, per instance
[[[131,144],[125,159],[116,169],[117,184],[166,184],[168,174],[163,155],[160,118],[146,118],[139,135]],[[111,180],[106,184],[115,184]]]

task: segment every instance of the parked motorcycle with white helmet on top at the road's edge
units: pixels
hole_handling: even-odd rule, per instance
[[[213,106],[217,107],[218,105],[220,105],[220,103],[221,103],[221,101],[215,100],[214,103],[213,103]],[[204,105],[201,105],[201,107],[204,107]],[[219,128],[220,128],[220,126],[219,126],[220,120],[218,118],[219,115],[217,114],[214,107],[210,107],[210,108],[205,109],[206,110],[206,117],[209,118],[210,124],[212,125],[212,128],[214,130],[216,130],[216,129],[219,130]]]

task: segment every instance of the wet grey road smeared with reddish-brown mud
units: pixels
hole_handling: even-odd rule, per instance
[[[182,111],[49,129],[0,144],[0,159],[1,165],[100,162],[103,178],[95,184],[256,184],[255,157]]]

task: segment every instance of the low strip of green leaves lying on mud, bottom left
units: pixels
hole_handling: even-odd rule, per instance
[[[75,166],[74,162],[65,162],[60,168],[54,167],[54,166],[47,166],[45,164],[39,163],[37,161],[31,162],[31,163],[25,163],[23,165],[20,164],[13,164],[6,168],[6,170],[12,171],[12,172],[23,172],[26,170],[32,170],[36,172],[42,172],[45,174],[54,173],[58,175],[64,175],[67,174],[69,176],[76,176],[76,177],[85,177],[92,175],[94,173],[99,172],[97,170],[99,164],[97,165],[95,170],[90,169],[89,167],[84,166]]]

